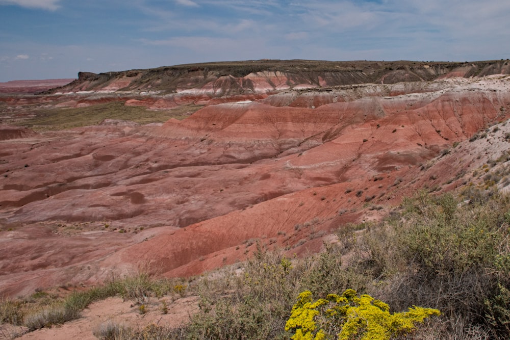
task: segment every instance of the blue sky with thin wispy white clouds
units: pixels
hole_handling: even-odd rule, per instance
[[[505,0],[0,0],[0,82],[259,59],[510,58]]]

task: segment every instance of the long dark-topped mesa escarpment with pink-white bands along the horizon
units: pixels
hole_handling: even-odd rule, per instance
[[[375,62],[256,60],[186,64],[121,72],[80,72],[74,82],[46,93],[83,91],[212,93],[217,97],[283,89],[352,84],[395,84],[442,77],[509,74],[508,60],[483,62]]]

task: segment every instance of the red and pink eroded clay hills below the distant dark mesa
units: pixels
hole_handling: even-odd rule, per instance
[[[416,188],[409,182],[420,164],[504,120],[507,84],[488,79],[315,109],[224,103],[161,126],[111,122],[4,140],[0,242],[23,251],[11,247],[15,255],[0,259],[0,289],[94,282],[140,263],[189,275],[243,259],[255,239],[316,251],[343,223],[376,219],[367,202],[387,204]],[[82,229],[68,236],[70,225]],[[105,231],[113,228],[128,232]]]

